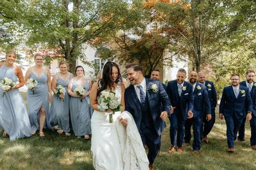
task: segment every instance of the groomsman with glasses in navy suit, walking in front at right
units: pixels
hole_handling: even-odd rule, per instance
[[[239,74],[232,74],[231,85],[224,87],[220,102],[220,119],[227,124],[228,152],[234,152],[237,131],[243,122],[252,118],[252,100],[247,87],[239,85]]]

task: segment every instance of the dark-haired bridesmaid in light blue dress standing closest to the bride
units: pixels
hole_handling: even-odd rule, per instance
[[[79,97],[74,90],[83,86],[86,93]],[[72,78],[68,83],[68,94],[70,94],[70,118],[73,131],[77,137],[84,136],[84,139],[90,139],[91,131],[90,119],[90,90],[92,88],[92,81],[86,79],[84,76],[84,69],[82,66],[76,67],[76,77]],[[81,99],[82,102],[81,102]]]

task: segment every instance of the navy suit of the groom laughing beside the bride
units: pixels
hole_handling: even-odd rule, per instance
[[[141,104],[134,85],[125,89],[125,110],[131,113],[141,135],[143,145],[148,146],[148,160],[154,163],[159,146],[161,145],[161,133],[165,122],[160,118],[162,110],[170,111],[170,99],[160,81],[148,80],[145,104]],[[158,91],[155,93],[148,89],[151,84],[156,84]],[[162,104],[162,107],[161,107]],[[161,109],[162,108],[162,109]]]

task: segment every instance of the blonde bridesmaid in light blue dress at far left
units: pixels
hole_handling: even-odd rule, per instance
[[[3,137],[8,135],[13,141],[31,136],[31,128],[28,112],[19,92],[19,88],[24,86],[24,77],[21,68],[13,64],[16,53],[14,51],[7,52],[5,59],[5,62],[0,62],[0,81],[10,78],[15,86],[6,90],[3,97],[3,89],[0,87],[0,127],[4,129]],[[17,78],[19,79],[18,84],[16,84]]]

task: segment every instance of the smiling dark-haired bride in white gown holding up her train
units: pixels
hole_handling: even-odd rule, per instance
[[[112,110],[102,110],[98,103],[100,92],[115,92],[122,105],[121,111],[113,115]],[[102,78],[92,86],[90,102],[94,110],[92,116],[92,153],[95,169],[148,169],[148,159],[138,129],[131,114],[124,111],[125,87],[120,69],[115,62],[106,62]],[[129,122],[129,123],[128,123]]]

